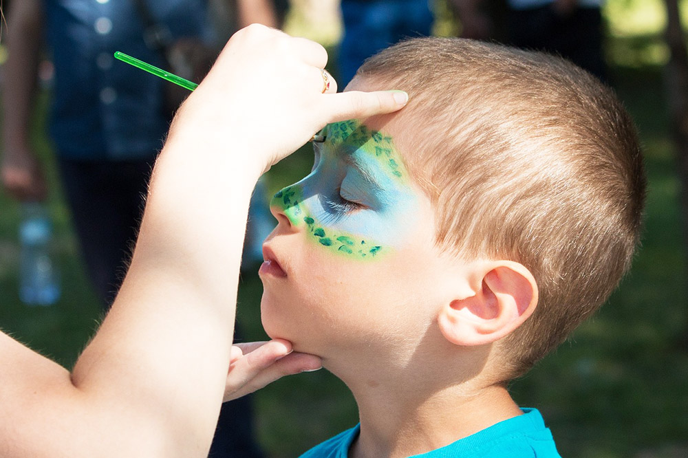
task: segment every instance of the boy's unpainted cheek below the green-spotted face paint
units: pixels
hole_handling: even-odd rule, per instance
[[[332,256],[297,234],[281,237],[273,244],[280,243],[276,252],[290,248],[289,276],[266,283],[261,301],[270,338],[285,338],[297,351],[323,356],[377,336],[403,336],[409,326],[427,321],[416,306],[426,294],[427,276],[418,247],[361,262]]]

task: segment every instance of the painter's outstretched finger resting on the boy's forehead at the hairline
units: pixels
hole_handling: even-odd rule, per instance
[[[378,114],[393,113],[405,107],[409,94],[405,91],[348,91],[326,94],[327,122],[361,119]]]

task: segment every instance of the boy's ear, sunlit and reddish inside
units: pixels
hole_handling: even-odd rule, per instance
[[[455,345],[495,342],[519,327],[537,306],[535,277],[522,264],[490,261],[473,274],[473,295],[442,306],[438,325]]]

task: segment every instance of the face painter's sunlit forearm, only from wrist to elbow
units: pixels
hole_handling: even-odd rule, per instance
[[[125,282],[73,372],[80,391],[147,419],[175,444],[165,456],[180,457],[206,455],[217,421],[252,190],[241,167],[208,164],[193,146],[162,151]],[[199,205],[219,179],[233,200]]]

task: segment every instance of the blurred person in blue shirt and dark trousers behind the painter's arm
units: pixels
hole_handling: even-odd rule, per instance
[[[268,0],[21,0],[6,10],[3,186],[19,201],[47,195],[30,138],[47,45],[54,65],[50,137],[87,272],[105,310],[136,239],[153,162],[188,94],[116,62],[113,54],[122,51],[198,82],[224,44],[210,20],[220,1],[235,13],[237,28],[279,25]],[[250,417],[248,399],[223,406],[211,457],[262,456]]]

